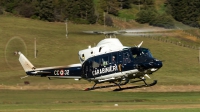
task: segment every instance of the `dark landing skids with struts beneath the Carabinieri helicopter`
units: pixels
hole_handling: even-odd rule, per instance
[[[90,90],[95,90],[95,89],[103,89],[103,88],[109,88],[109,87],[115,87],[115,86],[118,86],[119,88],[115,89],[113,91],[122,91],[122,90],[126,90],[126,89],[135,89],[135,88],[142,88],[142,87],[150,87],[150,86],[154,86],[154,85],[157,84],[157,80],[154,80],[154,82],[151,83],[151,84],[147,84],[144,79],[137,80],[137,81],[134,81],[132,83],[136,83],[136,82],[140,82],[140,81],[143,81],[144,85],[132,86],[132,87],[126,87],[126,88],[121,88],[121,86],[126,85],[129,82],[129,80],[125,81],[124,83],[115,83],[115,82],[112,82],[112,83],[114,83],[113,85],[98,86],[98,87],[95,87],[96,84],[97,84],[97,83],[95,83],[92,88],[86,88],[85,91],[90,91]]]

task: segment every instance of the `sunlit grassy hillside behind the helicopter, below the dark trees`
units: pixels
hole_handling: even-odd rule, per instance
[[[25,73],[13,54],[20,50],[36,67],[59,66],[79,63],[78,51],[88,45],[97,44],[103,35],[82,34],[85,30],[104,30],[100,25],[78,25],[68,23],[69,35],[65,37],[64,23],[49,23],[39,20],[24,19],[13,16],[0,16],[0,82],[2,85],[23,85],[29,81],[32,86],[59,85],[65,87],[73,84],[87,84],[86,81],[51,80],[40,77],[20,79]],[[106,30],[116,28],[106,27]],[[164,36],[165,38],[170,38]],[[34,39],[37,40],[37,58],[34,58]],[[154,57],[163,60],[163,67],[151,77],[160,85],[199,85],[198,50],[178,46],[149,37],[132,37],[118,35],[123,45],[135,46],[144,41],[143,47],[151,50]],[[81,85],[79,85],[81,86]]]

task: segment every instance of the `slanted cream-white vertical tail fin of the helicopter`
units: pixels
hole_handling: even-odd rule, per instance
[[[32,71],[35,69],[33,64],[21,53],[18,52],[19,54],[19,62],[21,63],[22,67],[24,68],[24,71]]]

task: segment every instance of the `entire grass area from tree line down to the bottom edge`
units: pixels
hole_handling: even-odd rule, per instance
[[[36,67],[79,63],[79,50],[88,45],[94,46],[104,39],[103,35],[86,35],[81,31],[104,29],[116,30],[100,25],[68,23],[69,35],[66,38],[64,23],[0,16],[0,111],[199,110],[198,50],[145,37],[117,36],[127,46],[135,46],[144,41],[142,46],[149,48],[154,57],[164,61],[163,67],[151,75],[149,81],[158,80],[158,84],[152,88],[131,92],[111,92],[112,88],[85,92],[82,90],[93,84],[84,80],[48,80],[41,77],[20,79],[25,73],[14,51],[22,51]],[[35,38],[37,58],[34,57]],[[24,85],[24,81],[29,81],[30,85]],[[175,92],[170,92],[171,88]]]

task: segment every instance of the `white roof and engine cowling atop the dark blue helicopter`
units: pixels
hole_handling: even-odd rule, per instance
[[[114,52],[114,51],[119,51],[124,48],[127,48],[122,45],[122,43],[119,41],[117,38],[105,38],[101,40],[95,47],[80,50],[79,51],[79,59],[80,62],[83,63],[86,59],[109,53],[109,52]]]

